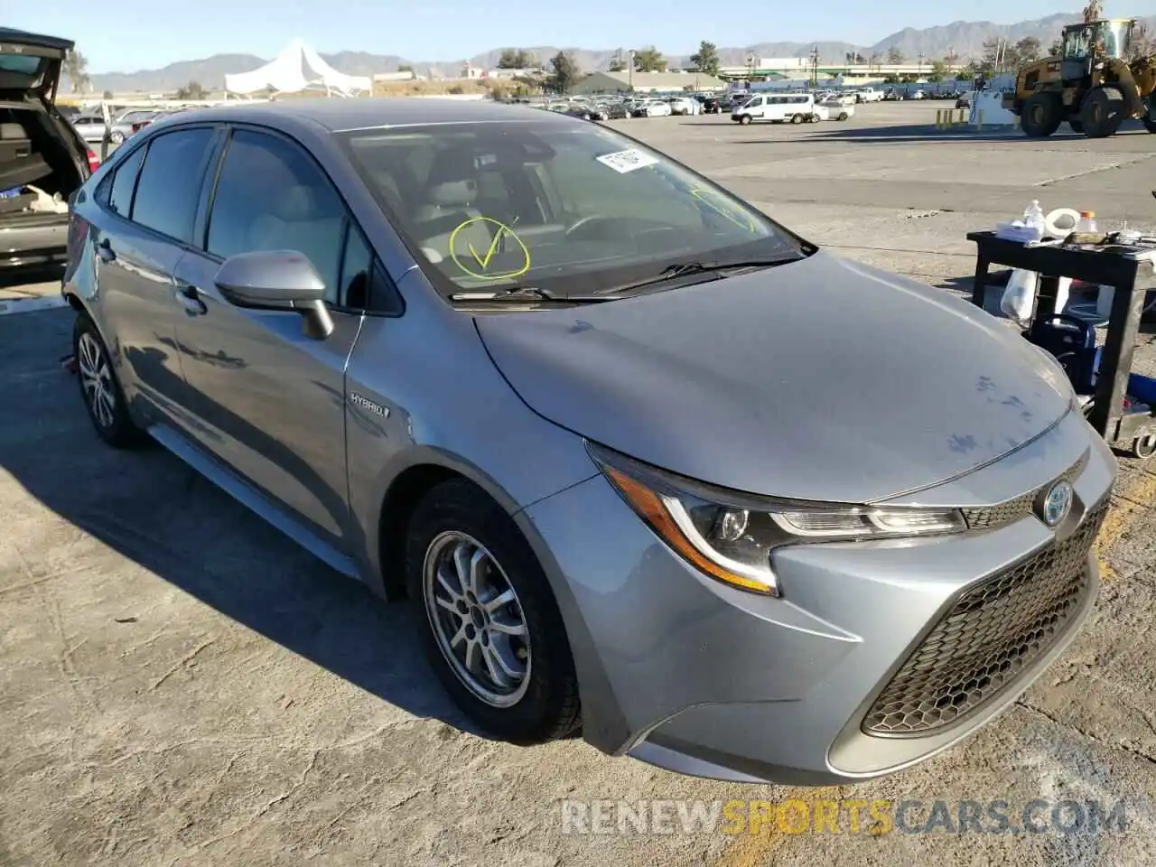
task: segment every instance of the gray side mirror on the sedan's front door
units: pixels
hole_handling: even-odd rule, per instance
[[[314,340],[333,333],[325,281],[309,257],[296,250],[237,253],[224,260],[213,282],[235,306],[299,313],[305,335]]]

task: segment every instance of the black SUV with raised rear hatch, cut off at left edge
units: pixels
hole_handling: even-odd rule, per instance
[[[64,262],[96,154],[55,106],[69,39],[0,28],[0,268]]]

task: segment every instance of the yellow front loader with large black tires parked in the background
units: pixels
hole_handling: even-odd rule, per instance
[[[1067,123],[1089,139],[1103,139],[1131,118],[1156,133],[1156,55],[1128,61],[1135,25],[1135,18],[1072,24],[1064,28],[1060,57],[1021,68],[1003,105],[1020,116],[1024,133],[1044,139]]]

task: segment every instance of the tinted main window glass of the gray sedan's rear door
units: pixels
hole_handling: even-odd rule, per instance
[[[202,126],[164,133],[149,142],[133,199],[134,223],[192,243],[193,220],[215,134],[215,129]]]

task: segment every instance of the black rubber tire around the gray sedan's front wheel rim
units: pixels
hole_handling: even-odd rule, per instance
[[[427,605],[427,555],[451,533],[476,540],[498,564],[528,631],[528,684],[507,706],[488,703],[466,684],[443,651],[429,613],[429,607],[437,608]],[[541,743],[575,732],[580,721],[578,679],[562,615],[538,558],[501,506],[466,480],[451,480],[431,489],[409,523],[406,581],[430,665],[467,717],[495,736],[516,743]]]

